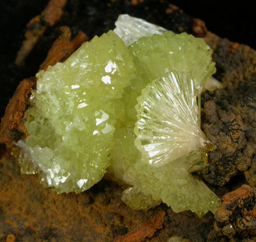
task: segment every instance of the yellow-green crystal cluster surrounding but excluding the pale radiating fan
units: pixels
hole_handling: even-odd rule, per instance
[[[112,31],[94,37],[64,63],[37,74],[26,112],[30,136],[18,143],[21,171],[40,173],[58,193],[79,193],[107,169],[105,178],[132,185],[122,200],[133,209],[162,200],[175,212],[215,212],[218,197],[190,173],[204,167],[205,150],[152,166],[143,161],[133,131],[143,88],[170,72],[187,72],[201,89],[215,72],[211,54],[203,40],[186,33],[143,37],[128,48]]]

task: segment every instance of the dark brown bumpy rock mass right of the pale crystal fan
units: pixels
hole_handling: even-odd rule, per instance
[[[256,52],[212,33],[205,40],[214,49],[216,78],[223,89],[202,95],[202,130],[215,145],[208,165],[199,175],[210,184],[224,185],[239,172],[255,185],[256,153]]]

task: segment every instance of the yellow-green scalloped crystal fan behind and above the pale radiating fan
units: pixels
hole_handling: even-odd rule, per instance
[[[191,72],[195,87],[201,91],[216,71],[212,49],[203,39],[185,32],[142,37],[131,44],[129,50],[136,57],[135,64],[142,67],[142,77],[151,81],[170,71]]]

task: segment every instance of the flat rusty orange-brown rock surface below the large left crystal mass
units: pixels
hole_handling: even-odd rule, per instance
[[[0,241],[13,234],[16,241],[113,242],[118,235],[151,220],[156,212],[127,207],[120,199],[124,189],[101,181],[84,193],[57,194],[44,188],[38,176],[21,174],[7,152],[0,160]],[[160,212],[145,229],[162,227],[163,217]],[[159,240],[153,237],[152,241]]]

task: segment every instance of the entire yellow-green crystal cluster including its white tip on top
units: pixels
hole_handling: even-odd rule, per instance
[[[116,26],[36,75],[29,136],[17,144],[21,171],[58,193],[83,192],[105,176],[131,185],[122,200],[133,209],[163,201],[175,212],[215,213],[219,198],[191,173],[215,148],[198,108],[215,72],[212,50],[128,15]]]

